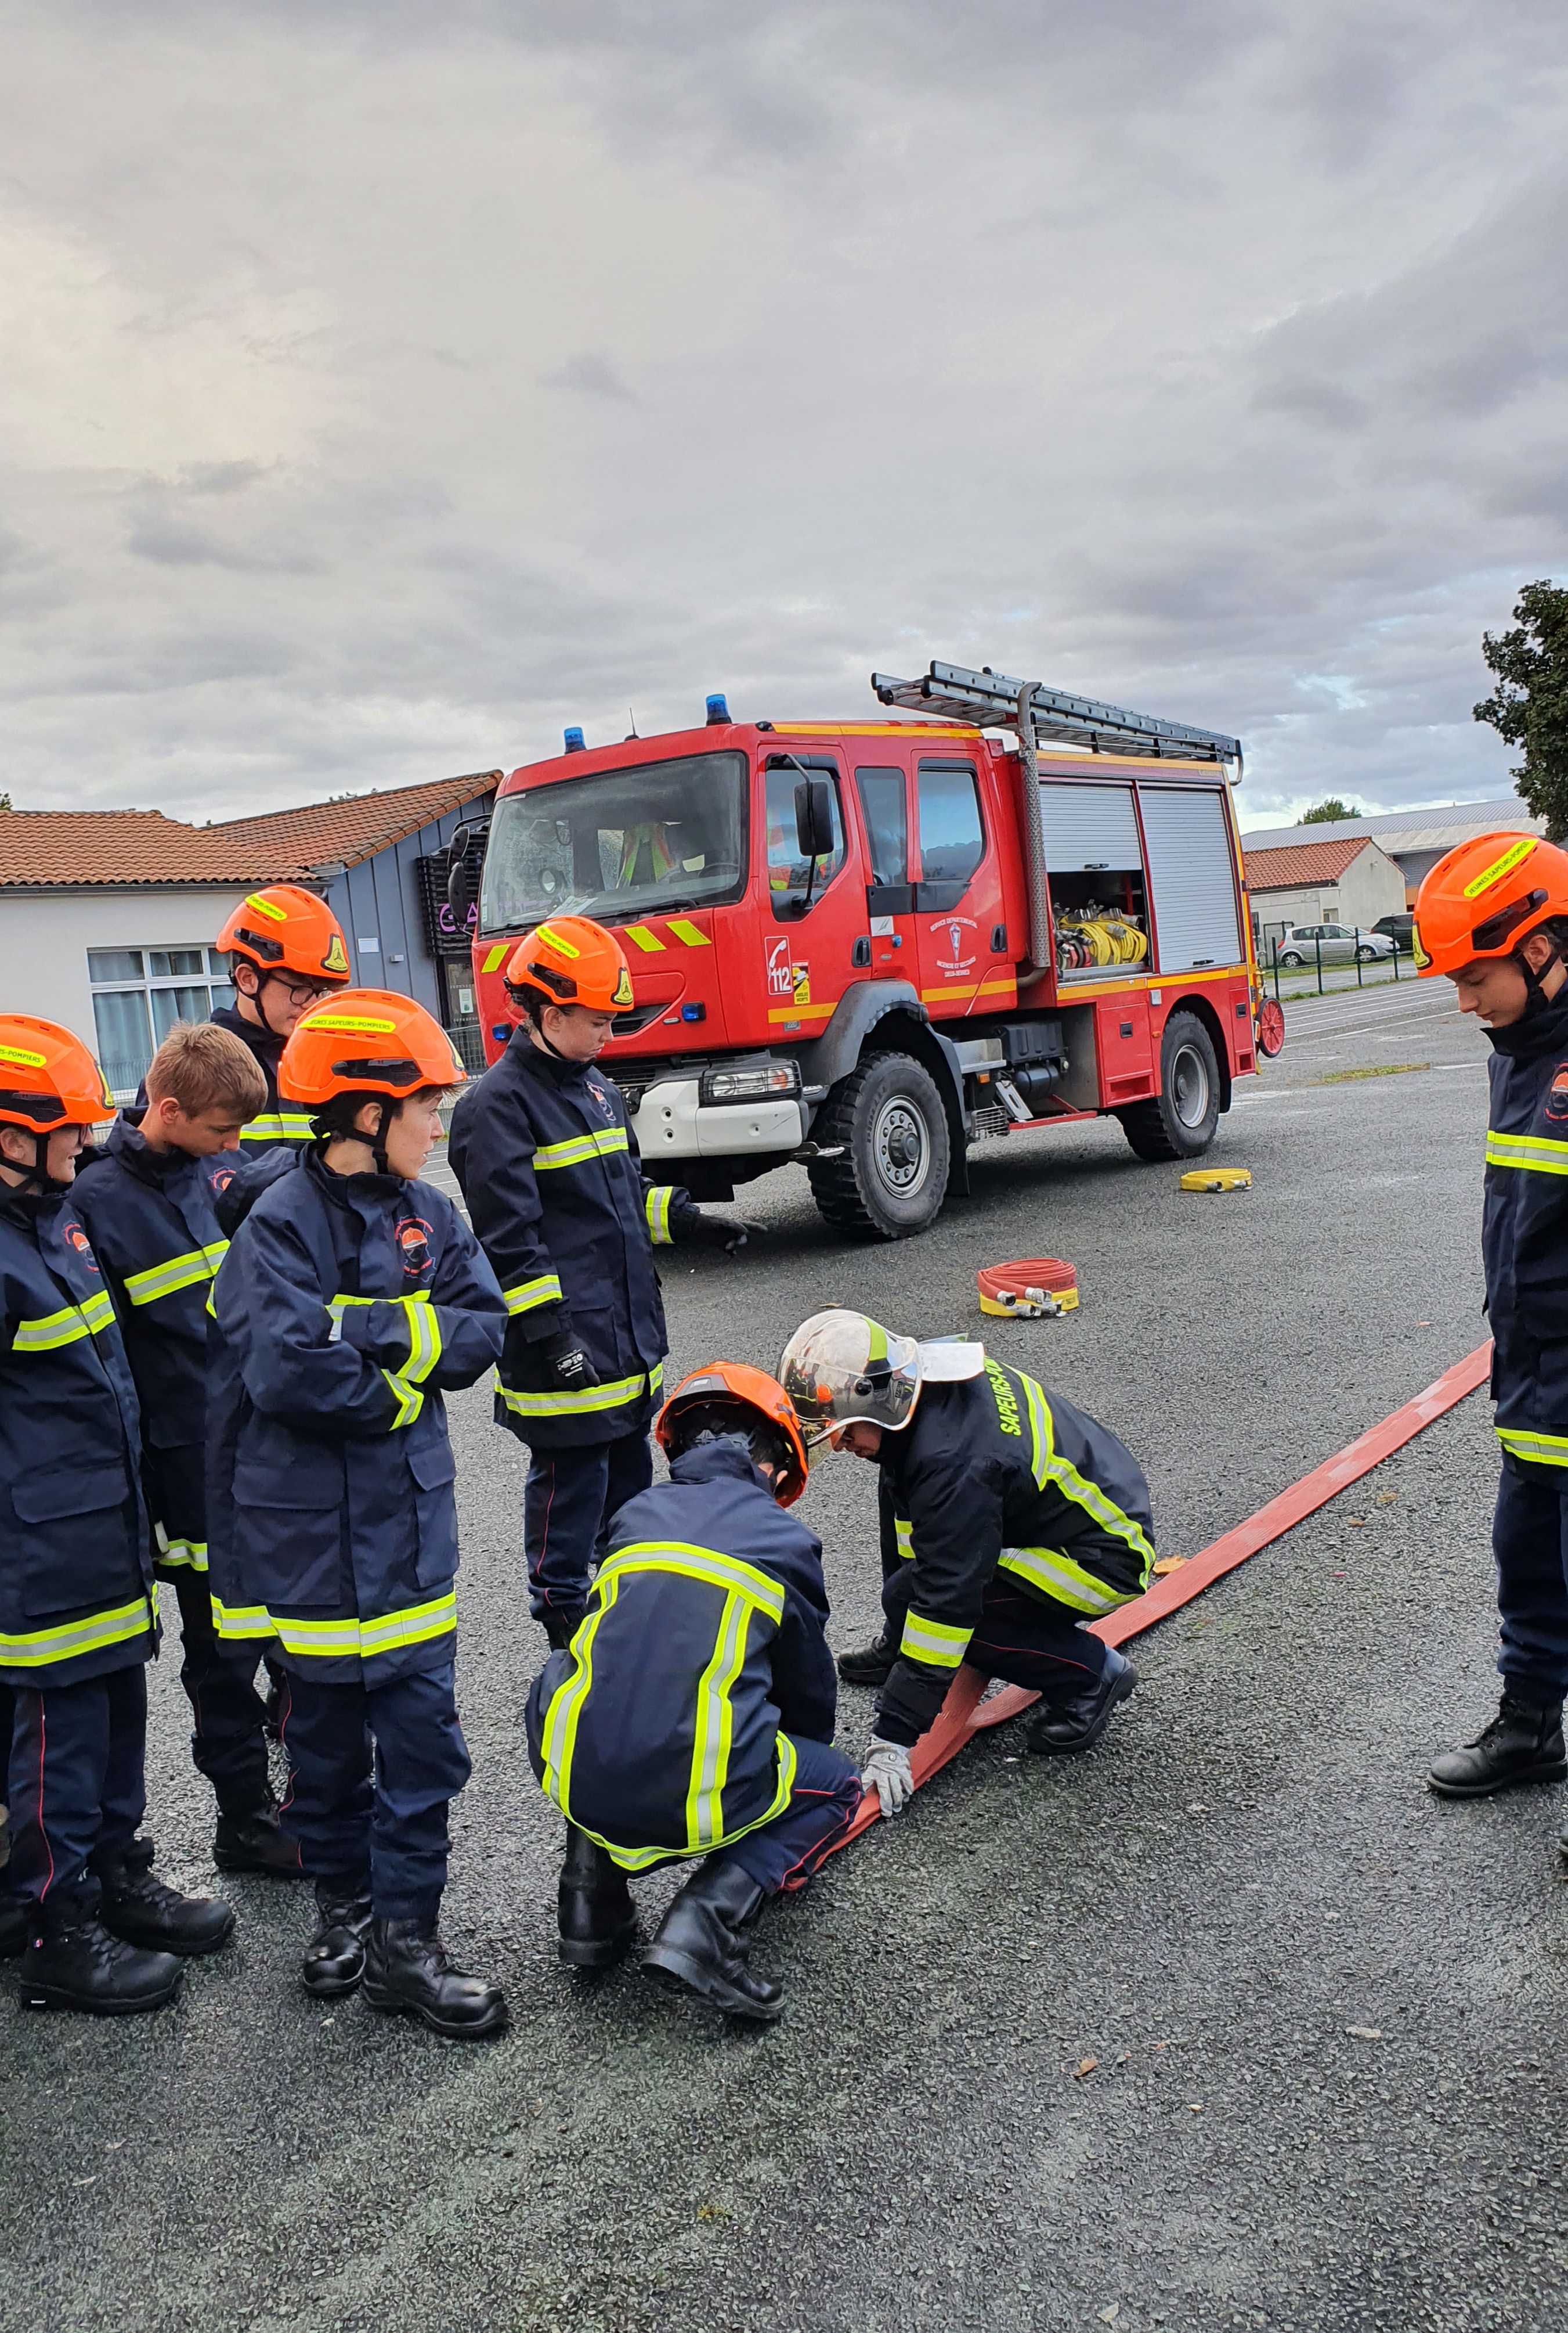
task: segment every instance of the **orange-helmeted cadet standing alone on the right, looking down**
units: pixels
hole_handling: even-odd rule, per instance
[[[1433,1761],[1444,1799],[1561,1782],[1568,1691],[1568,854],[1535,835],[1477,835],[1416,898],[1414,950],[1447,973],[1491,1038],[1482,1255],[1503,1479],[1491,1544],[1503,1701]],[[1568,1852],[1568,1836],[1563,1838]]]

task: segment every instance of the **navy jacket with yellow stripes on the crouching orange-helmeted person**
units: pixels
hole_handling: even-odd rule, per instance
[[[625,1869],[782,1815],[791,1736],[833,1740],[821,1542],[730,1442],[686,1451],[609,1528],[588,1612],[527,1696],[544,1792]]]

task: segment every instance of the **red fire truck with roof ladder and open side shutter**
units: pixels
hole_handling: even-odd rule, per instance
[[[651,1173],[728,1199],[791,1160],[826,1220],[908,1239],[968,1150],[1120,1120],[1199,1157],[1276,1050],[1241,887],[1241,744],[1003,674],[873,674],[915,719],[730,721],[504,779],[474,975],[551,915],[609,924],[635,1010],[607,1048]],[[478,849],[453,856],[467,919]]]

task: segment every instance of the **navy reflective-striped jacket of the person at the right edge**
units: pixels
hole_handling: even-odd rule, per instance
[[[1489,1029],[1482,1255],[1503,1449],[1568,1465],[1568,989]]]

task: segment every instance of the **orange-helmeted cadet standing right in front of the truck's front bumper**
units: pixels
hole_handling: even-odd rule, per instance
[[[460,1099],[448,1157],[511,1313],[495,1416],[532,1451],[532,1612],[565,1645],[609,1516],[653,1481],[670,1348],[653,1248],[733,1255],[756,1225],[705,1215],[632,1155],[621,1092],[593,1066],[632,1006],[614,933],[583,915],[539,924],[511,954],[506,994],[523,1022]]]

